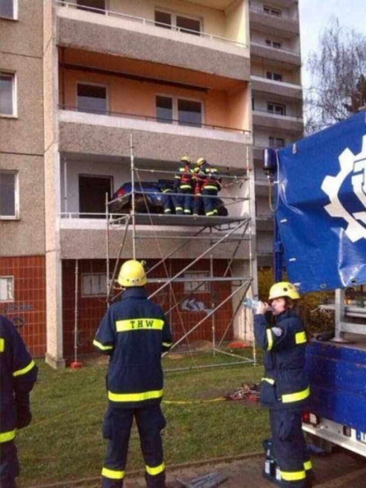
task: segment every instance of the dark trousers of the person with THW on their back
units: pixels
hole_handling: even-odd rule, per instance
[[[103,437],[108,439],[108,446],[102,470],[102,488],[123,487],[128,443],[134,418],[146,465],[147,486],[165,487],[161,430],[166,422],[160,404],[152,404],[138,409],[109,406],[103,422]]]

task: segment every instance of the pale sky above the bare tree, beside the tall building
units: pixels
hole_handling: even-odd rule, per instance
[[[332,16],[342,27],[354,29],[366,35],[366,0],[299,0],[302,82],[309,86],[306,61],[310,51],[318,48],[319,35],[327,27]]]

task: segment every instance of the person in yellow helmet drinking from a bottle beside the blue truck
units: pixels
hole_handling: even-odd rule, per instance
[[[259,302],[254,315],[254,335],[265,350],[261,404],[269,408],[274,456],[284,488],[307,488],[313,472],[301,425],[301,414],[310,395],[305,374],[307,343],[304,324],[294,308],[300,298],[288,282],[274,284],[267,303]],[[271,310],[274,322],[265,314]]]

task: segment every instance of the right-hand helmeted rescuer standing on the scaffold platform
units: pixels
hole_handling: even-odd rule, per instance
[[[219,172],[208,164],[204,157],[200,157],[196,161],[196,168],[193,170],[195,181],[195,201],[193,214],[199,215],[202,213],[202,200],[205,215],[217,215],[217,194],[221,189],[221,179]]]

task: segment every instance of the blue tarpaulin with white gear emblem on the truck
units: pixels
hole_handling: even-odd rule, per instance
[[[280,149],[276,212],[301,292],[366,283],[366,112]]]

